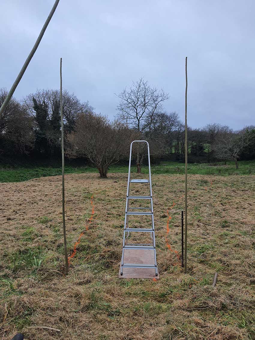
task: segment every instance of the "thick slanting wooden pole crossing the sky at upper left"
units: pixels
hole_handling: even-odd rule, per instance
[[[21,70],[20,70],[20,72],[19,72],[19,74],[18,74],[18,77],[16,78],[16,80],[15,80],[15,82],[13,83],[13,86],[11,87],[11,89],[10,89],[8,95],[6,96],[6,98],[5,98],[5,100],[4,100],[3,104],[2,104],[2,106],[0,107],[0,118],[2,117],[2,114],[3,114],[3,112],[4,112],[5,108],[6,108],[6,106],[7,106],[8,103],[10,102],[10,100],[11,100],[13,94],[14,94],[14,91],[15,91],[16,87],[18,86],[18,84],[19,84],[19,82],[20,82],[20,80],[21,80],[21,78],[22,78],[24,72],[26,71],[26,69],[27,69],[27,67],[28,67],[28,64],[30,63],[30,61],[31,61],[31,59],[32,59],[32,57],[33,57],[33,55],[35,54],[35,51],[37,50],[37,47],[38,47],[39,44],[40,44],[40,41],[41,41],[41,39],[42,39],[42,37],[43,37],[43,35],[44,35],[44,32],[46,31],[46,28],[47,28],[47,26],[48,26],[48,24],[49,24],[49,22],[50,22],[50,20],[51,20],[51,18],[52,18],[52,16],[53,16],[55,10],[56,10],[56,8],[57,8],[57,5],[58,5],[58,2],[59,2],[59,1],[60,1],[60,0],[56,0],[56,1],[55,1],[54,5],[53,5],[53,7],[52,7],[52,9],[51,9],[51,11],[50,11],[50,14],[49,14],[48,18],[46,19],[46,21],[45,21],[45,23],[44,23],[44,26],[43,26],[43,28],[41,29],[41,32],[40,32],[40,34],[39,34],[39,36],[38,36],[38,38],[37,38],[37,40],[36,40],[36,42],[35,42],[35,44],[34,44],[34,47],[32,48],[31,52],[29,53],[29,55],[28,55],[28,57],[27,57],[27,60],[25,61],[24,65],[22,66],[22,68],[21,68]]]

